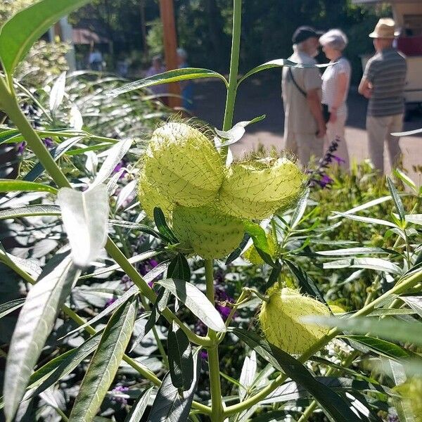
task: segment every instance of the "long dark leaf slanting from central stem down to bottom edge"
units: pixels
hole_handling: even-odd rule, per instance
[[[267,343],[257,333],[243,330],[242,328],[234,328],[234,334],[243,340],[255,352],[260,354],[264,359],[276,361],[277,366],[286,373],[286,375],[293,381],[296,381],[316,399],[321,405],[322,409],[330,415],[334,421],[347,421],[347,422],[361,422],[362,420],[354,414],[350,409],[350,404],[343,399],[336,392],[328,388],[323,383],[317,381],[308,369],[301,364],[298,359],[295,359],[290,354],[283,352],[278,347]],[[269,359],[270,357],[270,359]]]

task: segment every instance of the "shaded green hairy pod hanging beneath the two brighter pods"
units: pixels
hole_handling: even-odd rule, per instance
[[[174,234],[204,259],[226,257],[243,239],[241,219],[220,215],[209,207],[176,205],[172,213]]]

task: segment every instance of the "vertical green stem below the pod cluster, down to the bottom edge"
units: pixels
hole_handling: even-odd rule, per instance
[[[207,286],[207,298],[214,305],[214,271],[212,269],[212,260],[205,260],[205,282]],[[217,333],[208,329],[208,336],[212,340],[217,340]],[[219,376],[219,358],[218,344],[207,347],[208,366],[210,369],[210,392],[211,392],[211,421],[223,421],[223,403],[222,403],[222,385]]]

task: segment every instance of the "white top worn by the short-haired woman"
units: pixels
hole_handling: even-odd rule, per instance
[[[331,110],[331,106],[335,101],[335,91],[337,89],[337,78],[338,75],[341,73],[345,73],[347,75],[347,88],[345,91],[345,96],[343,98],[342,103],[338,107],[337,114],[343,115],[347,113],[347,94],[349,94],[349,87],[350,87],[350,74],[352,72],[350,68],[350,63],[347,58],[340,57],[336,60],[337,63],[334,65],[328,66],[326,68],[324,74],[322,75],[322,100],[321,103],[328,105],[328,110]]]

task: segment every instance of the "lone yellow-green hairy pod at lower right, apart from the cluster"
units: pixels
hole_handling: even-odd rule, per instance
[[[282,288],[272,290],[269,302],[262,302],[259,319],[269,343],[290,354],[302,354],[328,333],[328,328],[302,321],[302,317],[310,315],[330,315],[330,312],[318,300]]]

